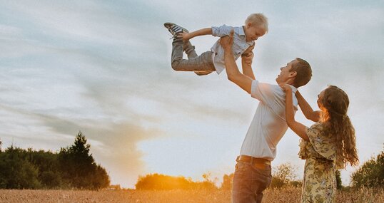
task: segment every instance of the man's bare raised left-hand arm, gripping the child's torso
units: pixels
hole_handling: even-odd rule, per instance
[[[253,79],[238,71],[238,66],[236,65],[235,58],[233,57],[233,32],[234,31],[231,30],[229,36],[224,36],[220,39],[220,44],[224,49],[224,61],[226,62],[228,80],[231,80],[240,88],[246,90],[247,93],[251,94],[251,85]]]

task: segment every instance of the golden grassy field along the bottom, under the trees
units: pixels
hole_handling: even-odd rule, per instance
[[[300,188],[267,189],[263,202],[299,202]],[[226,190],[15,190],[0,189],[0,202],[231,202],[231,192]],[[343,191],[337,202],[384,202],[384,189],[360,189]]]

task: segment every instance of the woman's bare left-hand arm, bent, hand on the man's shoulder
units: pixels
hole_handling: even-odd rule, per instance
[[[286,121],[288,127],[295,132],[303,140],[309,140],[307,132],[305,132],[305,125],[295,121],[295,115],[293,111],[293,98],[292,89],[287,84],[280,85],[281,88],[286,92]]]

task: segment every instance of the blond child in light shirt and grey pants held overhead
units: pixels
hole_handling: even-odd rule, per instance
[[[213,71],[220,74],[225,68],[224,51],[220,43],[216,41],[211,51],[206,51],[198,56],[189,39],[208,34],[218,37],[227,36],[233,29],[235,33],[232,51],[236,60],[239,56],[248,56],[255,46],[254,41],[268,32],[268,20],[263,14],[251,14],[246,19],[245,25],[241,27],[213,26],[189,33],[186,28],[173,23],[165,23],[164,26],[173,35],[171,56],[173,70],[194,71],[198,76],[207,75]],[[188,59],[183,59],[183,51],[186,52]]]

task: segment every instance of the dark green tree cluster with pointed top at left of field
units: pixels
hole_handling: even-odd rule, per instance
[[[1,145],[1,142],[0,142]],[[74,145],[60,152],[24,150],[11,145],[0,149],[1,189],[101,189],[110,180],[106,170],[96,165],[91,145],[79,132]]]

